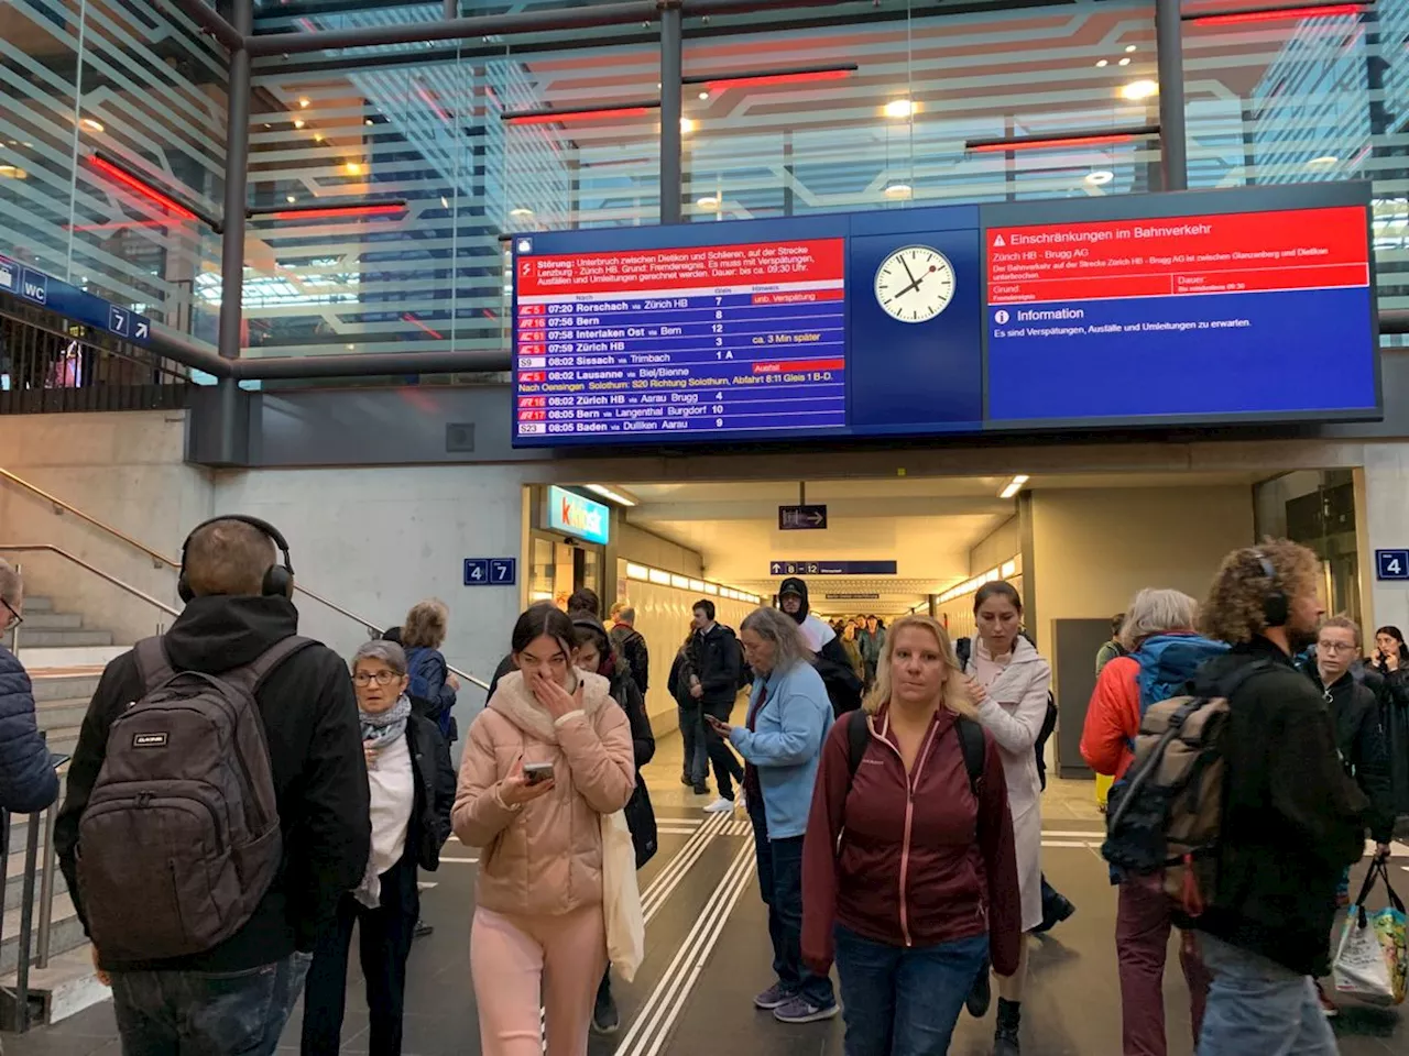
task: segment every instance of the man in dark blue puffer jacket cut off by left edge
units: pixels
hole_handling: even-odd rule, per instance
[[[23,622],[24,582],[0,558],[0,632]],[[59,798],[59,776],[34,719],[34,686],[18,658],[0,645],[0,807],[42,811]]]

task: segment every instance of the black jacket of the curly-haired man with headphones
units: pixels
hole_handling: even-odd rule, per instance
[[[1222,738],[1217,881],[1192,926],[1324,976],[1336,886],[1364,853],[1365,797],[1347,777],[1320,693],[1265,638],[1206,662],[1195,693],[1220,696],[1230,673],[1261,662],[1229,701]]]

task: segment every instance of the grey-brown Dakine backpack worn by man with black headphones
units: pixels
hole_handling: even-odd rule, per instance
[[[93,943],[113,960],[203,953],[242,928],[283,860],[255,693],[309,638],[221,674],[176,672],[137,643],[141,700],[113,719],[79,819],[77,880]]]

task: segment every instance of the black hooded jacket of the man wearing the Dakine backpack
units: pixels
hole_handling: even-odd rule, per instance
[[[166,632],[172,667],[221,672],[259,656],[299,629],[299,612],[282,597],[199,597]],[[125,652],[99,681],[73,762],[54,843],[80,919],[75,859],[79,819],[107,755],[113,719],[144,694],[137,660]],[[106,970],[244,972],[311,952],[338,898],[362,880],[372,848],[371,803],[356,696],[342,659],[324,645],[300,649],[269,673],[255,697],[273,772],[283,865],[248,924],[214,949],[163,962],[113,963]],[[134,848],[134,853],[141,853]],[[132,891],[141,912],[141,891]]]

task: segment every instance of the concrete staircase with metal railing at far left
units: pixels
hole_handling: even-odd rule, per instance
[[[110,631],[85,627],[76,612],[56,612],[54,603],[44,597],[27,597],[24,624],[18,628],[18,656],[34,683],[35,718],[45,732],[49,750],[73,755],[79,742],[83,717],[97,689],[103,666],[125,652],[127,646],[113,645]],[[8,645],[8,642],[7,642]],[[68,786],[68,767],[59,772],[59,804]],[[55,811],[58,804],[55,805]],[[34,881],[34,932],[31,952],[39,942],[39,898],[44,883],[45,846],[44,815],[38,815],[38,874]],[[20,912],[24,901],[25,841],[31,818],[13,815],[10,822],[10,856],[4,884],[4,925],[0,932],[0,987],[15,986],[15,964],[20,959]],[[48,967],[30,969],[30,998],[35,1014],[31,1022],[58,1022],[107,997],[107,990],[93,979],[92,950],[83,936],[68,884],[58,865],[54,866],[54,910],[49,931]]]

